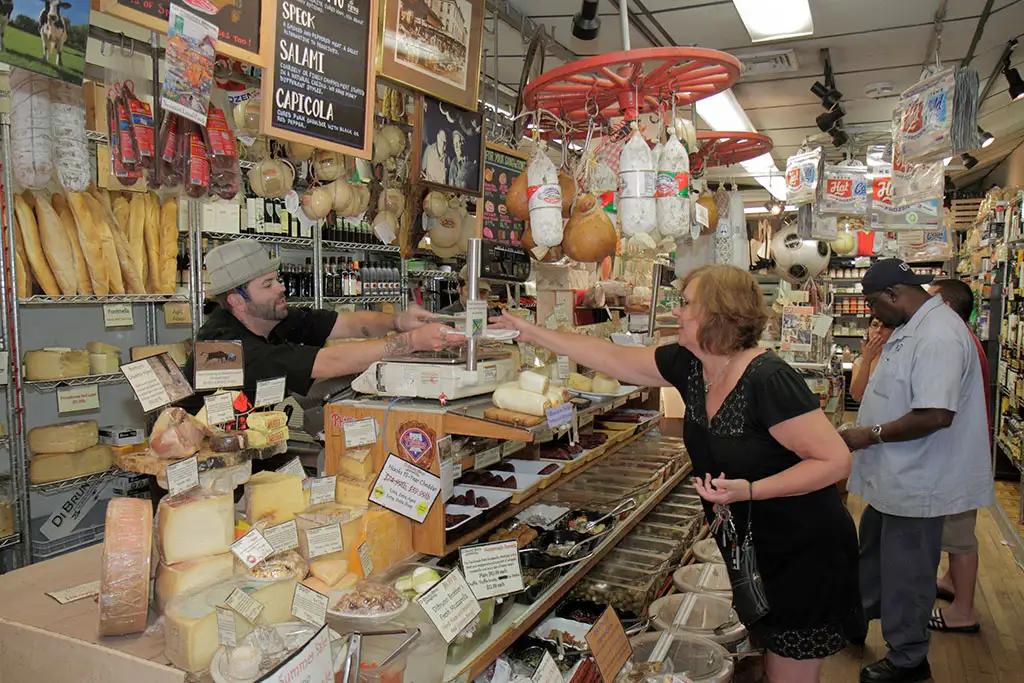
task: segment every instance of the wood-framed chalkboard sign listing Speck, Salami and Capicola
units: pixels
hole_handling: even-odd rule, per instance
[[[281,0],[264,8],[273,46],[260,131],[321,150],[373,156],[377,0]]]

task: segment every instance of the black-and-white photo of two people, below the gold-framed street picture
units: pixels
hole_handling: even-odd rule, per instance
[[[483,176],[483,115],[429,95],[417,98],[414,167],[420,182],[479,195]]]

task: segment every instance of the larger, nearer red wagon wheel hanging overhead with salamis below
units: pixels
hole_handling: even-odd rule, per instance
[[[698,47],[650,47],[585,57],[531,80],[527,109],[545,109],[570,123],[636,119],[662,103],[691,104],[728,89],[739,78],[731,54]]]

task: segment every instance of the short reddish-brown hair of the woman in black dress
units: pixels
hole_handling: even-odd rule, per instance
[[[726,355],[757,346],[768,312],[754,275],[731,265],[702,265],[686,273],[682,289],[693,281],[700,348]]]

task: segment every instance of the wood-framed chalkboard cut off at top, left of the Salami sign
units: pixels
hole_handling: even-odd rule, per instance
[[[261,0],[183,1],[182,4],[217,27],[218,53],[263,66],[259,35]],[[164,34],[167,33],[170,6],[171,0],[101,0],[99,3],[100,11]]]

